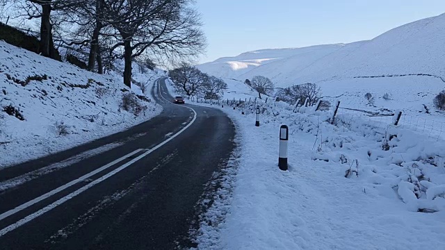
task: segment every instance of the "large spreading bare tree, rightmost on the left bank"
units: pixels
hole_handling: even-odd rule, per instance
[[[124,47],[124,84],[131,83],[131,61],[147,49],[165,57],[196,56],[205,47],[200,16],[192,0],[108,0],[106,19],[113,20]]]

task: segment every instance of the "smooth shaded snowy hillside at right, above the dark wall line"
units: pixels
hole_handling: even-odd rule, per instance
[[[445,14],[406,24],[344,53],[340,58],[338,55],[328,56],[307,69],[288,72],[287,76],[293,76],[296,81],[394,74],[444,76],[444,26]]]

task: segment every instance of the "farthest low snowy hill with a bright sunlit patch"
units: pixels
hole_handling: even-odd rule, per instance
[[[240,78],[263,65],[282,65],[290,57],[301,57],[306,64],[314,62],[337,49],[343,44],[316,45],[295,49],[262,49],[241,53],[234,57],[219,58],[211,63],[197,65],[202,72],[223,78]]]

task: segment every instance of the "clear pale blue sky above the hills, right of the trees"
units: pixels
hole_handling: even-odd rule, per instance
[[[355,42],[445,12],[445,0],[197,0],[200,63],[245,51]]]

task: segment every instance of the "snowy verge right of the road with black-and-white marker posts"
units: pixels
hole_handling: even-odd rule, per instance
[[[221,108],[241,158],[202,217],[198,249],[443,249],[442,141],[341,114],[331,125],[332,111],[261,106],[259,127],[252,107]],[[282,124],[286,172],[277,167]]]

